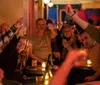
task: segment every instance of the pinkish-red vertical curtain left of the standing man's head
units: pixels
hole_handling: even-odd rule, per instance
[[[34,33],[34,0],[24,0],[24,22],[27,37]]]

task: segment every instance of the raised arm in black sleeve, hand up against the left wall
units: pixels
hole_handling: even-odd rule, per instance
[[[20,30],[21,26],[22,26],[22,22],[23,22],[23,18],[20,18],[16,21],[16,23],[14,25],[12,25],[10,27],[10,29],[14,30],[14,36],[13,38],[11,39],[10,43],[4,48],[3,52],[0,54],[0,57],[4,56],[6,57],[6,55],[12,55],[12,52],[14,51],[14,49],[16,48],[17,44],[18,44],[18,41],[19,41],[19,38],[17,38],[17,34],[19,32],[17,32],[18,30]],[[16,34],[17,33],[17,34]]]

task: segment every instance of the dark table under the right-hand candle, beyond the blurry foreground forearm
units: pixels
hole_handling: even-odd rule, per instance
[[[91,67],[73,68],[68,76],[68,85],[84,83],[85,77],[91,76],[91,75],[93,75],[93,70]]]

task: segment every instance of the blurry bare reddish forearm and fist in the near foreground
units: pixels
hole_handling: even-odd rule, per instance
[[[76,65],[76,61],[86,59],[87,53],[85,51],[73,50],[68,53],[65,61],[60,66],[58,71],[53,76],[49,85],[65,85],[66,79],[70,73],[71,68]]]

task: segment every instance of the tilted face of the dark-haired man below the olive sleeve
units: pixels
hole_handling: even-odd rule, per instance
[[[84,32],[80,35],[80,41],[84,44],[85,47],[90,48],[92,47],[94,40],[86,32]]]

